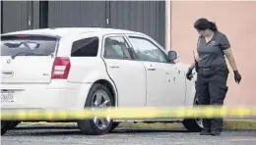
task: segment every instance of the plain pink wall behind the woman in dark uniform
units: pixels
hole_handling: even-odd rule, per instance
[[[256,2],[253,1],[191,1],[171,2],[171,47],[177,49],[180,62],[193,61],[197,31],[194,22],[206,17],[215,22],[231,44],[237,68],[242,75],[239,85],[229,67],[229,90],[224,103],[229,106],[255,106],[256,82]],[[228,65],[229,66],[229,65]]]

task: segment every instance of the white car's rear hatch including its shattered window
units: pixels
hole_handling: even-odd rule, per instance
[[[48,83],[58,37],[1,36],[1,83]]]

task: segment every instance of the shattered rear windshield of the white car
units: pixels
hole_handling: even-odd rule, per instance
[[[2,36],[1,56],[49,56],[55,52],[58,39],[49,36]]]

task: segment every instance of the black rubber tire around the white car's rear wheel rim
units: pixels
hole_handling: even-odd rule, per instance
[[[109,92],[109,90],[104,85],[96,83],[90,89],[90,92],[86,100],[85,108],[87,109],[92,108],[92,105],[93,105],[92,102],[94,101],[93,100],[94,96],[98,91],[100,91],[101,93],[104,93],[105,95],[108,95],[110,100],[109,106],[114,106],[113,96],[111,96],[111,93]],[[96,126],[96,123],[94,122],[94,120],[83,120],[83,121],[78,121],[78,127],[80,128],[83,134],[101,135],[101,134],[108,133],[110,131],[112,127],[112,122],[113,121],[110,120],[109,125],[107,125],[107,127],[100,129]]]

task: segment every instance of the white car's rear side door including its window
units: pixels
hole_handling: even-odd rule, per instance
[[[119,107],[146,105],[146,71],[135,61],[123,34],[103,37],[103,59],[107,73],[116,85]]]

